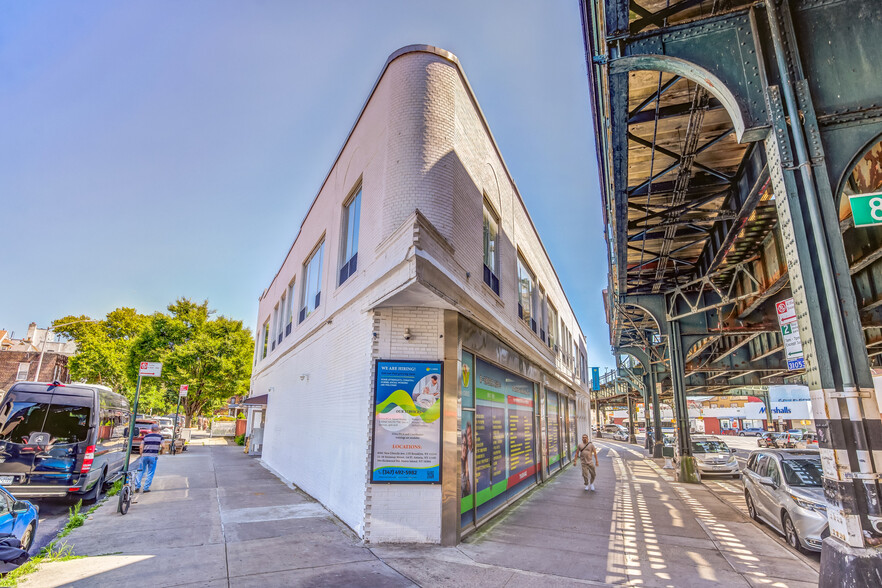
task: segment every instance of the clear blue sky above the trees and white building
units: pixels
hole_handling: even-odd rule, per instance
[[[186,296],[253,331],[386,58],[410,44],[459,57],[589,363],[610,365],[576,0],[0,4],[0,329]]]

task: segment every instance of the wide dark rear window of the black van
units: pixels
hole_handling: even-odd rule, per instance
[[[28,443],[33,433],[48,433],[48,445],[76,443],[89,433],[89,408],[45,402],[12,401],[0,411],[0,440]]]

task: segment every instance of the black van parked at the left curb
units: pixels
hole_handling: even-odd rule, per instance
[[[0,399],[0,485],[17,497],[98,499],[122,470],[130,418],[106,386],[15,384]]]

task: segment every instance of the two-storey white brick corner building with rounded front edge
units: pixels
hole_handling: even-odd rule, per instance
[[[263,460],[370,542],[456,543],[560,468],[587,430],[584,337],[465,74],[441,49],[386,62],[260,298],[258,331]],[[435,382],[423,374],[395,410],[422,427],[406,447],[440,447],[437,469],[372,462],[385,443],[372,438],[378,360],[436,362],[425,366],[440,390],[420,396]],[[427,435],[437,438],[421,445]],[[434,483],[371,481],[434,472]]]

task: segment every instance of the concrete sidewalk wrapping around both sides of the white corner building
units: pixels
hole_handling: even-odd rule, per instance
[[[597,492],[570,467],[457,547],[367,547],[237,446],[160,458],[125,517],[68,538],[86,559],[22,586],[816,586],[817,571],[700,485],[599,442]]]

